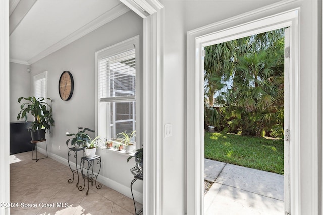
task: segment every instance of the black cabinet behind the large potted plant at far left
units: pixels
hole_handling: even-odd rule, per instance
[[[32,150],[31,122],[10,122],[10,155]]]

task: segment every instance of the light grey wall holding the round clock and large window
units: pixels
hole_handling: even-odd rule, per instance
[[[53,99],[55,126],[46,138],[53,158],[67,159],[67,131],[77,132],[77,127],[95,129],[95,52],[136,35],[142,39],[142,31],[142,18],[130,11],[30,66],[30,94],[33,76],[48,71],[47,95]],[[74,78],[74,92],[69,101],[59,96],[58,82],[63,71],[70,71]],[[126,188],[133,179],[130,169],[135,166],[134,159],[127,163],[128,156],[101,149],[96,154],[102,156],[98,180],[131,196],[130,189]],[[134,184],[134,190],[142,193],[141,181]]]

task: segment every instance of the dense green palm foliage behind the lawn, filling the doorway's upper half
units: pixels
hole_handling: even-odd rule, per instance
[[[223,106],[220,113],[226,116],[229,127],[245,135],[264,135],[265,130],[281,133],[277,131],[283,127],[284,29],[205,50],[205,96],[213,106],[217,95],[216,103]],[[228,80],[232,84],[226,89]],[[219,120],[222,116],[214,115]]]

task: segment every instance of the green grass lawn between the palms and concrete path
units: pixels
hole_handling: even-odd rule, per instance
[[[284,140],[205,132],[205,158],[284,174]]]

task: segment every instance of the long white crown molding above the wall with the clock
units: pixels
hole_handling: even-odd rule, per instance
[[[89,22],[88,24],[84,25],[80,29],[76,30],[69,36],[65,37],[61,41],[57,42],[56,44],[50,46],[43,52],[37,54],[36,56],[29,59],[27,62],[29,65],[37,62],[38,60],[48,56],[49,54],[63,48],[64,46],[74,42],[75,40],[85,36],[86,34],[94,31],[95,29],[101,27],[102,25],[111,22],[112,20],[116,19],[117,17],[127,13],[130,9],[125,6],[124,4],[120,3],[116,7],[112,8],[111,10],[105,12],[98,18],[94,19],[93,21]]]

